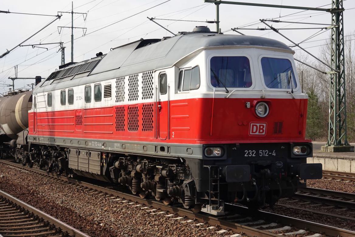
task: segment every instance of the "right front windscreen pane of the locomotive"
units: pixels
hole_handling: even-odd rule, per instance
[[[261,59],[264,82],[268,88],[294,89],[297,87],[291,61],[285,58]]]

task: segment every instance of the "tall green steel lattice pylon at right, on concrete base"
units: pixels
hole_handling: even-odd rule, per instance
[[[327,146],[349,146],[346,137],[346,90],[344,62],[343,0],[332,0],[331,66],[337,73],[330,74],[329,124]]]

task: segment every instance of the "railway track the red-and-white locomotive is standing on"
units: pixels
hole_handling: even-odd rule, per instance
[[[215,217],[215,216],[201,214],[201,213],[194,213],[190,210],[181,208],[180,205],[166,206],[162,202],[156,201],[155,199],[142,199],[138,196],[126,192],[122,192],[120,190],[114,190],[112,187],[102,187],[101,185],[83,182],[65,176],[58,176],[56,174],[47,173],[39,169],[24,167],[22,165],[19,165],[17,163],[12,163],[10,161],[0,160],[0,162],[11,167],[16,167],[18,169],[25,169],[27,171],[31,171],[42,176],[50,176],[56,179],[61,179],[62,181],[65,182],[76,184],[81,187],[86,187],[103,193],[111,194],[113,195],[113,197],[119,197],[118,199],[113,199],[113,201],[121,200],[120,202],[123,202],[122,200],[124,200],[127,203],[127,205],[128,204],[133,205],[133,202],[140,203],[140,205],[146,205],[146,207],[144,208],[146,208],[145,210],[147,211],[159,212],[159,210],[155,210],[155,209],[161,209],[164,211],[175,213],[176,215],[180,216],[177,217],[176,220],[183,219],[182,216],[188,219],[187,222],[189,222],[190,220],[191,221],[197,220],[201,222],[198,223],[197,225],[199,224],[204,225],[203,227],[206,227],[206,224],[210,225],[210,227],[207,228],[215,228],[214,226],[218,225],[223,229],[231,229],[236,233],[243,233],[244,235],[247,236],[260,236],[260,237],[266,237],[266,236],[279,237],[280,235],[278,234],[280,233],[281,234],[283,233],[284,235],[288,235],[288,236],[297,235],[303,237],[306,236],[321,237],[322,234],[325,234],[327,236],[343,236],[343,237],[355,236],[354,231],[322,225],[319,223],[300,220],[288,216],[278,215],[267,211],[257,211],[253,215],[250,215],[249,213],[250,211],[247,208],[236,206],[236,205],[233,205],[233,209],[234,209],[234,213],[238,213],[238,214],[229,214],[223,217]],[[129,202],[128,200],[130,200],[131,202]],[[153,209],[148,210],[149,207],[152,207]],[[158,213],[154,213],[154,214],[158,214]],[[222,232],[219,233],[223,233],[223,230]],[[233,236],[238,236],[238,234]]]

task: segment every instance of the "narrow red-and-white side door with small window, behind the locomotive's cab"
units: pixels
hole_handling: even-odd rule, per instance
[[[158,77],[158,137],[160,140],[168,139],[169,134],[169,87],[166,72]]]

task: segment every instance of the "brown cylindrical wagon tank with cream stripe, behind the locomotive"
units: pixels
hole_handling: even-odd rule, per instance
[[[28,128],[28,111],[32,107],[32,91],[0,97],[0,139],[17,139]]]

